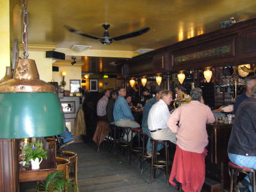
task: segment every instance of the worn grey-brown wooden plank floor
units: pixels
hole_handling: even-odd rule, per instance
[[[145,172],[140,174],[137,157],[133,156],[131,164],[122,152],[117,156],[101,146],[96,152],[93,142],[71,144],[67,150],[78,153],[78,181],[80,192],[165,192],[177,190],[167,186],[165,174],[156,173],[156,179],[149,185],[150,166],[145,164]],[[36,191],[36,182],[21,183],[20,191]]]

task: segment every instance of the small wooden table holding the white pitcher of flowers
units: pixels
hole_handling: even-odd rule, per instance
[[[55,162],[54,152],[52,150],[47,151],[47,159],[43,159],[40,164],[40,169],[31,169],[31,166],[24,167],[18,164],[19,182],[27,181],[40,181],[45,180],[46,177],[57,170],[57,164]]]

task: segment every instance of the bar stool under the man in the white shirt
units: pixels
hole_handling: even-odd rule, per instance
[[[156,140],[151,137],[150,139],[151,145],[152,145],[152,157],[151,157],[151,173],[150,173],[150,180],[149,184],[151,184],[153,175],[155,179],[156,175],[156,169],[162,169],[165,171],[165,176],[166,176],[166,183],[169,186],[169,175],[170,175],[170,157],[169,157],[169,140]],[[156,155],[156,144],[162,144],[165,147],[165,161],[159,161],[157,160],[157,155]]]

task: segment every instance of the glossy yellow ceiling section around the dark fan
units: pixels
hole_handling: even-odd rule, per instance
[[[219,28],[230,17],[256,16],[255,0],[28,0],[29,43],[90,45],[92,50],[134,51],[156,49]],[[142,27],[142,36],[111,45],[68,32],[64,24],[102,37],[102,23],[110,23],[110,37]],[[79,54],[78,54],[79,55]]]

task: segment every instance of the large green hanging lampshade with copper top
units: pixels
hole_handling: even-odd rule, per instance
[[[0,138],[62,134],[65,119],[54,91],[54,86],[39,80],[34,60],[19,60],[13,79],[0,85]]]

